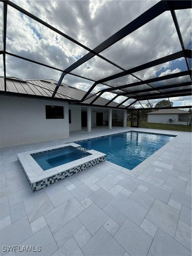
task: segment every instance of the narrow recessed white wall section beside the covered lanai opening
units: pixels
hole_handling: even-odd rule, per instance
[[[69,131],[81,130],[81,107],[80,106],[71,106],[71,124],[69,124]]]

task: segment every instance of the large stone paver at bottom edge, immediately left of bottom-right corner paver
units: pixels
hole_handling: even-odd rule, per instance
[[[123,223],[114,238],[130,255],[147,255],[153,240],[129,219]]]

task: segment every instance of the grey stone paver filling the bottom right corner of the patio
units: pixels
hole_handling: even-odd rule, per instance
[[[154,256],[190,256],[191,251],[189,251],[185,246],[178,243],[171,236],[167,235],[165,232],[157,229],[156,235],[153,239],[149,252]]]

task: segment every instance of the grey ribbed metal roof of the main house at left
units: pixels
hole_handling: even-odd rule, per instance
[[[22,93],[22,94],[28,94],[28,95],[36,95],[36,96],[43,96],[43,97],[51,97],[53,94],[53,91],[55,89],[55,86],[57,84],[57,81],[55,80],[45,80],[45,79],[39,79],[39,80],[22,80],[15,77],[7,77],[6,80],[7,84],[7,91],[13,92],[13,93]],[[0,91],[4,91],[4,78],[0,77]],[[82,97],[86,94],[86,91],[83,91],[81,89],[69,86],[67,84],[61,83],[59,86],[59,89],[53,98],[57,99],[66,99],[66,100],[81,100]],[[89,94],[88,96],[91,96],[93,94]],[[83,104],[89,104],[93,99],[95,99],[97,95],[91,97],[88,100],[83,101]],[[103,97],[99,97],[93,105],[101,105],[104,106],[109,102],[108,99],[105,99]],[[117,107],[119,103],[112,101],[108,106],[110,107]],[[121,108],[125,108],[125,105],[121,105]]]

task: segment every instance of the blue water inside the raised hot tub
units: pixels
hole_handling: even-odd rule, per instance
[[[50,168],[66,164],[89,155],[90,154],[87,152],[69,146],[32,155],[32,157],[45,171]]]

